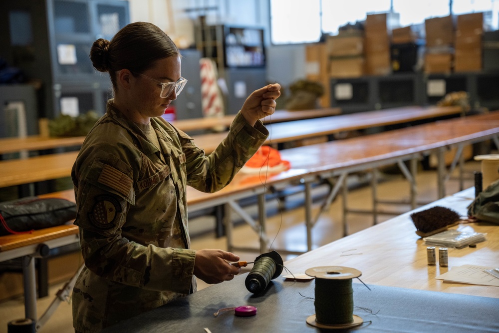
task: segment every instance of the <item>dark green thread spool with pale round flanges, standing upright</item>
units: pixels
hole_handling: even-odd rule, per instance
[[[362,273],[354,268],[321,266],[305,271],[315,278],[315,315],[307,324],[323,329],[347,329],[362,325],[362,318],[353,314],[352,279]]]

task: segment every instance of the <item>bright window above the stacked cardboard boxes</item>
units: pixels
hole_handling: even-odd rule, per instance
[[[498,28],[499,0],[270,0],[272,44],[317,42],[322,34],[366,18],[367,13],[400,14],[400,25],[422,24],[428,17],[484,12],[489,29]]]

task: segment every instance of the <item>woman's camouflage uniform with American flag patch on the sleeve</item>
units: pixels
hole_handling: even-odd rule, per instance
[[[94,332],[196,291],[186,186],[226,186],[264,142],[239,113],[209,155],[151,118],[160,149],[108,102],[72,170],[85,268],[73,289],[73,326]]]

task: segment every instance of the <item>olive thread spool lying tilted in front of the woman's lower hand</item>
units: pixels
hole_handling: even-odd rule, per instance
[[[275,251],[264,253],[256,257],[254,261],[253,268],[246,277],[245,285],[251,293],[260,294],[267,288],[270,280],[282,273],[284,262]]]

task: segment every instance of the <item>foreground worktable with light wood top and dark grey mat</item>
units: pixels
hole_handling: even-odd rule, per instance
[[[473,193],[474,189],[469,189],[418,210],[439,205],[465,214]],[[449,249],[448,267],[429,266],[427,246],[415,233],[412,212],[288,260],[284,267],[294,275],[315,267],[332,271],[354,268],[362,273],[360,279],[366,285],[352,281],[353,314],[364,324],[341,332],[498,332],[498,287],[444,283],[434,278],[467,264],[497,267],[499,225],[459,226],[487,233],[487,241],[476,248]],[[202,332],[203,328],[212,332],[326,332],[306,323],[315,313],[316,281],[285,281],[278,276],[264,293],[251,294],[245,288],[247,275],[125,320],[103,333]],[[213,315],[220,309],[245,305],[256,307],[256,315]]]

